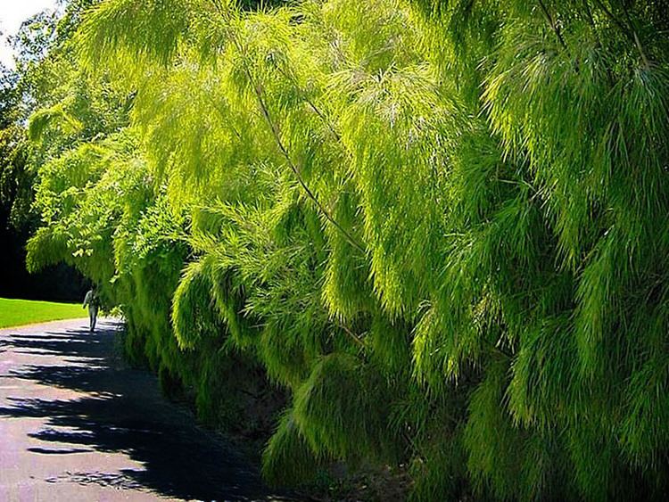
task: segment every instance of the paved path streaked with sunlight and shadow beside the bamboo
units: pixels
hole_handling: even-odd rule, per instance
[[[0,330],[0,501],[286,499],[86,324]]]

